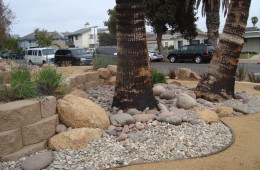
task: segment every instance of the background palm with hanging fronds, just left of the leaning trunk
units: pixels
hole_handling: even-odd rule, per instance
[[[208,41],[215,48],[219,38],[219,10],[221,0],[197,0],[197,8],[202,2],[202,16],[206,16],[206,26],[208,30]],[[224,15],[227,13],[229,0],[222,0]]]

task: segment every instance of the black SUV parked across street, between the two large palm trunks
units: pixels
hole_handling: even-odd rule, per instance
[[[185,45],[180,50],[169,52],[167,58],[171,63],[188,60],[195,63],[210,62],[214,52],[214,46],[208,44]]]

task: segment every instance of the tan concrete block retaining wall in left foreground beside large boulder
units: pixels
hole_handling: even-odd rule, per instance
[[[0,159],[18,159],[46,149],[59,123],[56,98],[20,100],[0,105]]]

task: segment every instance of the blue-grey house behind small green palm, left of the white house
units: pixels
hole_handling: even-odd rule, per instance
[[[57,44],[60,48],[67,48],[67,42],[68,42],[68,32],[60,33],[60,32],[48,32],[48,34],[53,34],[53,44]],[[58,46],[53,46],[54,48],[59,48]],[[35,34],[31,33],[24,37],[22,37],[18,41],[18,47],[21,47],[23,50],[28,48],[35,48],[39,47],[39,45],[36,42]]]

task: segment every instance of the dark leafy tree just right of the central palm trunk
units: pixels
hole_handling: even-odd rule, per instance
[[[188,4],[183,0],[145,0],[145,18],[157,34],[160,52],[163,52],[162,36],[167,30],[179,31],[188,40],[197,36],[194,7],[195,0]]]

